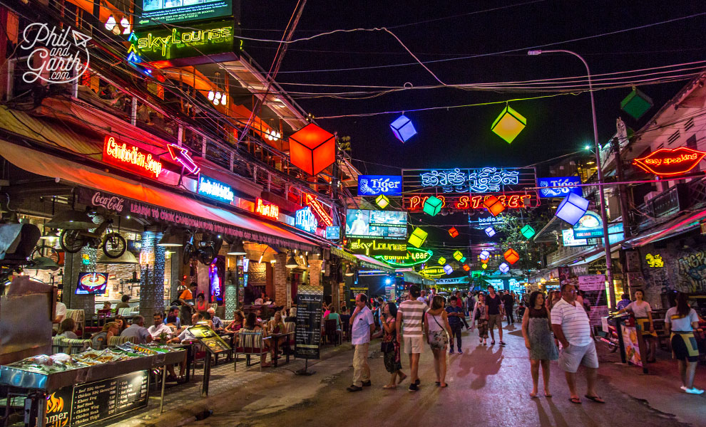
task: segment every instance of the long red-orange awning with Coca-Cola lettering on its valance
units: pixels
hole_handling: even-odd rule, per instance
[[[92,191],[88,196],[81,192],[81,202],[103,206],[118,214],[144,216],[150,220],[171,222],[185,228],[198,228],[200,231],[221,233],[302,251],[312,251],[314,247],[319,246],[318,243],[312,243],[273,224],[209,206],[182,194],[118,178],[99,169],[20,147],[11,142],[0,140],[0,154],[16,167],[28,172],[98,190]],[[109,201],[113,196],[127,199]],[[107,206],[108,203],[110,206]]]

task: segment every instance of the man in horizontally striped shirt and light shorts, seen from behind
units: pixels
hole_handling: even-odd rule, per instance
[[[422,336],[422,321],[424,314],[429,311],[429,306],[416,300],[420,295],[419,286],[409,287],[409,299],[402,301],[397,309],[397,342],[402,344],[404,352],[409,354],[409,369],[411,370],[411,384],[409,391],[419,389],[419,354],[424,348]],[[400,331],[401,330],[401,331]]]

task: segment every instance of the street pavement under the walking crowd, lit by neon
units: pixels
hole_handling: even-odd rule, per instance
[[[187,426],[703,426],[706,397],[686,395],[673,362],[662,362],[660,378],[645,376],[637,367],[615,365],[616,355],[600,351],[598,393],[607,401],[597,404],[581,399],[568,401],[563,372],[551,364],[552,398],[540,393],[531,399],[531,376],[520,325],[505,327],[506,347],[480,345],[476,332],[464,332],[464,353],[449,355],[449,370],[441,389],[434,386],[433,356],[428,347],[421,355],[420,390],[407,390],[409,379],[396,390],[384,390],[389,381],[379,344],[371,345],[369,365],[372,386],[350,393],[352,351],[340,348],[332,357],[309,365],[316,373],[295,376],[287,371],[271,376],[257,389],[243,386],[219,396],[213,414]],[[497,340],[497,337],[496,337]],[[344,344],[344,347],[350,347]],[[295,365],[298,367],[298,365]],[[409,374],[409,361],[402,361]],[[705,368],[700,366],[703,371]],[[294,368],[291,369],[292,371]],[[663,377],[662,377],[663,376]],[[702,377],[702,375],[700,375]],[[623,381],[623,379],[628,380]],[[264,380],[263,380],[264,381]],[[658,388],[650,384],[658,384]],[[697,384],[706,386],[706,384]],[[540,390],[541,390],[540,379]],[[583,371],[579,371],[580,396],[585,394]],[[641,394],[640,399],[631,395]],[[669,402],[675,401],[677,418]],[[659,406],[661,410],[655,408]]]

